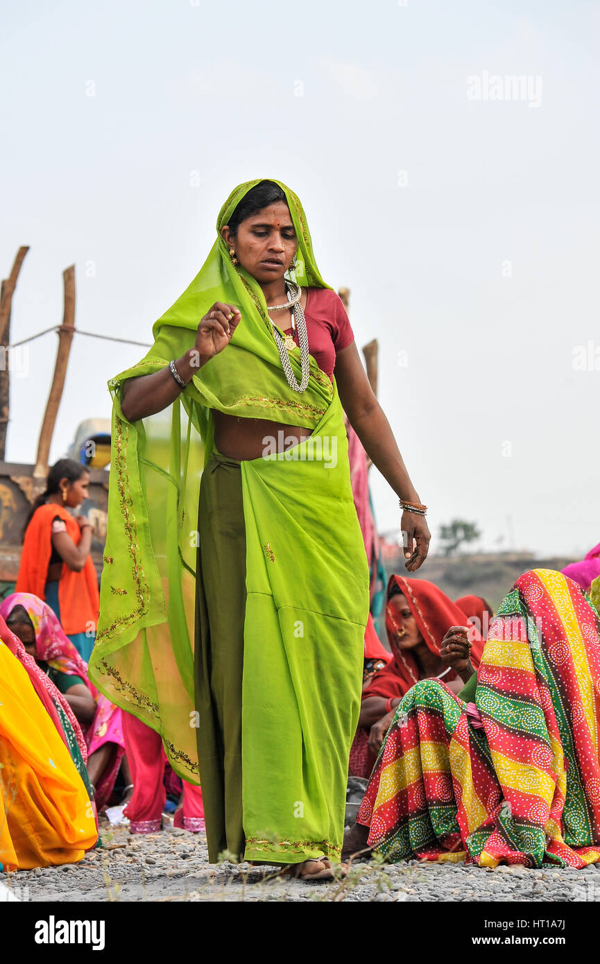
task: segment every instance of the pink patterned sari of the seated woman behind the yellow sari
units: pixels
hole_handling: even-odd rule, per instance
[[[124,753],[122,711],[90,683],[87,664],[71,643],[54,610],[32,593],[14,593],[0,604],[0,616],[6,619],[16,605],[24,608],[33,624],[36,633],[36,658],[67,676],[81,677],[95,699],[94,720],[88,727],[82,727],[88,758],[105,743],[113,745],[113,752],[96,782],[95,805],[99,811],[106,805],[112,793]],[[64,697],[62,702],[67,702]]]

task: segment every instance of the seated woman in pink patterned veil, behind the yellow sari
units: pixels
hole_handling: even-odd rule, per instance
[[[31,593],[14,593],[0,605],[0,616],[64,694],[79,722],[88,747],[87,767],[95,805],[101,810],[112,793],[120,766],[126,765],[122,711],[90,683],[86,663],[47,603]],[[133,789],[128,768],[123,775],[128,799]]]

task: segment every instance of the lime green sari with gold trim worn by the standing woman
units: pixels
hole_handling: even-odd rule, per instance
[[[302,393],[288,387],[262,290],[233,266],[220,230],[260,179],[239,185],[197,277],[154,324],[141,362],[109,382],[113,396],[108,532],[89,672],[106,696],[162,736],[185,780],[203,780],[195,727],[194,625],[198,505],[214,449],[211,410],[313,430],[271,457],[242,461],[246,534],[242,772],[246,859],[338,857],[349,748],[358,723],[368,564],[354,508],[335,380],[311,356]],[[306,217],[286,194],[299,284],[329,287]],[[241,321],[165,412],[130,423],[123,382],[193,346],[215,301]],[[290,353],[300,380],[300,352]],[[273,434],[276,435],[274,425]],[[223,605],[228,587],[223,586]]]

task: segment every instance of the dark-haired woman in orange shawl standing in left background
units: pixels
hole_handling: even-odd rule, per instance
[[[90,473],[73,459],[50,469],[45,492],[25,521],[15,592],[48,603],[86,663],[95,641],[99,594],[90,555],[92,525],[68,511],[88,497]]]

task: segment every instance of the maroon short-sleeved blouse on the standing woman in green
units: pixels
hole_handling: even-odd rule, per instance
[[[307,288],[304,316],[309,336],[309,352],[321,371],[333,379],[336,355],[354,341],[350,319],[340,295],[331,288]],[[288,317],[291,322],[291,315]],[[292,334],[291,327],[282,331]],[[298,344],[297,329],[293,333],[293,339]]]

